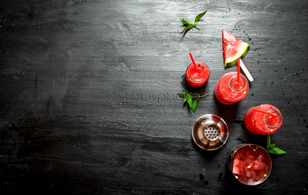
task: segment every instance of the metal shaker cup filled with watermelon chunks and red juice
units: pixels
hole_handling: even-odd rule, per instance
[[[243,184],[257,185],[266,180],[272,169],[270,155],[259,145],[241,144],[228,157],[229,170]]]

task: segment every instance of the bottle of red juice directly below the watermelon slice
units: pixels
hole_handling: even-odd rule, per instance
[[[237,72],[224,74],[215,86],[215,96],[223,104],[234,104],[241,101],[248,93],[249,84],[247,78],[240,74],[237,82]]]

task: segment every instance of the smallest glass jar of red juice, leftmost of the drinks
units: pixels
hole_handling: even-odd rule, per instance
[[[203,62],[195,62],[197,69],[193,63],[191,63],[186,69],[186,81],[190,86],[201,87],[209,79],[210,70]]]

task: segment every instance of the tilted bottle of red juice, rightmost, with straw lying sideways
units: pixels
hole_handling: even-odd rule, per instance
[[[253,108],[273,113],[273,115],[253,110]],[[275,133],[282,125],[282,115],[278,108],[270,104],[262,104],[250,108],[244,117],[246,128],[254,134],[268,135]]]

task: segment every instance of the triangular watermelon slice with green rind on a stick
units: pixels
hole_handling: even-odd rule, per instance
[[[222,47],[225,68],[234,66],[237,63],[237,58],[243,58],[250,48],[249,44],[236,38],[225,29],[222,30]]]

